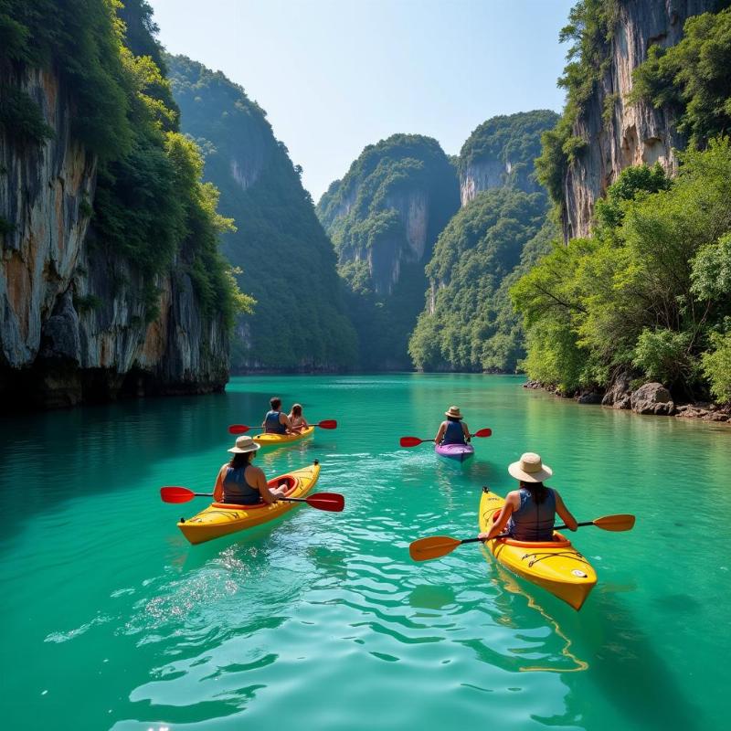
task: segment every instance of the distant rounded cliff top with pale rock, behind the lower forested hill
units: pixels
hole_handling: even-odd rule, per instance
[[[541,132],[556,124],[555,111],[524,111],[493,117],[477,127],[460,153],[461,205],[483,190],[511,186],[525,193],[542,190],[533,161],[541,151]]]

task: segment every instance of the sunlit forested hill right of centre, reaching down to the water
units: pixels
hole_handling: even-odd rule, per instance
[[[426,270],[427,309],[408,345],[414,365],[514,371],[524,334],[508,291],[555,235],[541,193],[491,188],[463,207],[441,233]]]

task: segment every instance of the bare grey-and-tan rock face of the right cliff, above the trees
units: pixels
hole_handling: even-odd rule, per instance
[[[666,109],[640,101],[630,104],[632,71],[653,44],[674,46],[685,20],[716,9],[715,0],[620,0],[610,41],[609,64],[573,135],[587,146],[569,164],[564,178],[563,233],[566,240],[587,236],[597,199],[630,165],[659,162],[676,167],[673,148],[685,140]]]

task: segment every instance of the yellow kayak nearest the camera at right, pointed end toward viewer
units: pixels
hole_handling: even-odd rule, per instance
[[[505,501],[482,489],[480,530],[489,531]],[[554,531],[554,539],[545,542],[514,541],[493,538],[485,547],[498,563],[519,577],[545,588],[574,609],[581,609],[589,592],[597,584],[597,573],[585,556],[578,553],[564,535]]]

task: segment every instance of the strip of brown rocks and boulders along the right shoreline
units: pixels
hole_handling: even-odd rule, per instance
[[[605,391],[587,390],[567,394],[538,381],[527,381],[523,387],[540,388],[558,397],[574,398],[579,404],[600,404],[607,408],[629,409],[636,414],[700,418],[731,425],[731,404],[720,405],[706,401],[676,404],[672,394],[662,383],[645,383],[632,388],[632,379],[626,373],[616,376]]]

